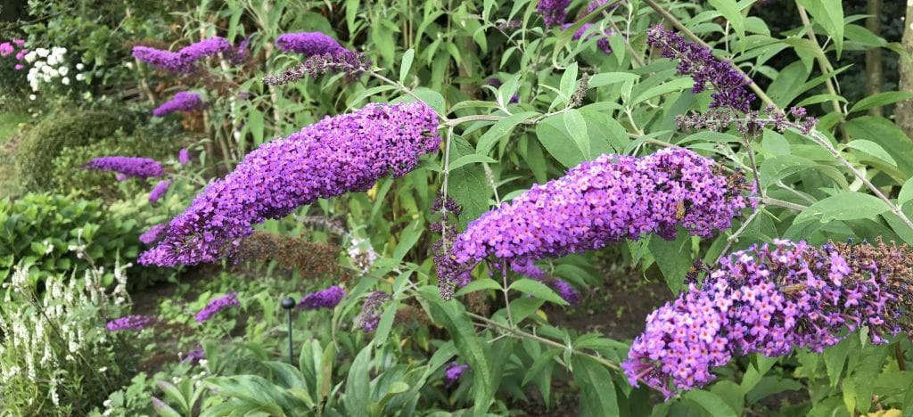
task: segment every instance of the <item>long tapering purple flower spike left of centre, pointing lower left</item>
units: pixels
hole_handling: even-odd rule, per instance
[[[270,141],[206,187],[140,263],[193,265],[231,255],[252,224],[412,171],[421,155],[440,146],[436,130],[435,111],[424,103],[370,104]]]

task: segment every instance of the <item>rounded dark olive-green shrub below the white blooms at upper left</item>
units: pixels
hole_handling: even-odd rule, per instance
[[[85,146],[118,130],[131,132],[137,117],[126,111],[63,110],[28,130],[16,151],[16,171],[29,191],[53,189],[54,158],[66,148]]]

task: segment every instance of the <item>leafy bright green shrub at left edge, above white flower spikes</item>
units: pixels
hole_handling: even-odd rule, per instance
[[[0,281],[12,273],[13,262],[28,267],[33,284],[49,276],[79,276],[89,267],[72,248],[85,245],[89,258],[112,266],[117,258],[130,262],[140,250],[142,230],[132,219],[110,215],[100,200],[46,193],[0,200]],[[113,276],[105,276],[105,284]]]

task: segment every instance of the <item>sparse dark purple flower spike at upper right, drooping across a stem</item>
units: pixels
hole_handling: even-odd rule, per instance
[[[713,56],[708,47],[685,41],[685,38],[661,25],[647,31],[646,42],[652,47],[663,50],[663,57],[678,60],[678,73],[691,76],[694,87],[691,91],[698,94],[707,89],[709,83],[715,92],[711,95],[710,108],[728,108],[747,113],[754,94],[745,86],[751,79],[741,74],[729,62]]]

